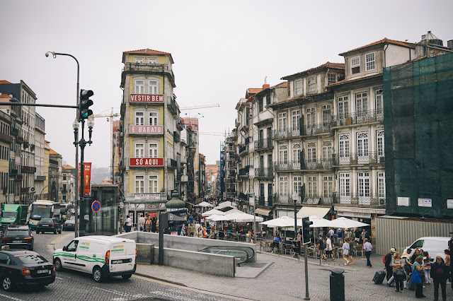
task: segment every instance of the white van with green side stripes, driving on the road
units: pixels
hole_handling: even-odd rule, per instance
[[[136,259],[134,240],[101,235],[77,237],[54,252],[57,271],[70,268],[92,273],[96,282],[110,276],[129,279],[135,273]]]

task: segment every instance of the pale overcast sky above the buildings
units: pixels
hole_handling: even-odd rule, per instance
[[[234,127],[236,103],[247,88],[282,76],[344,62],[338,56],[388,37],[419,42],[431,30],[447,45],[453,39],[453,1],[0,1],[0,80],[25,81],[39,103],[76,104],[80,87],[94,91],[94,114],[120,112],[122,52],[170,52],[180,107],[200,113],[200,131]],[[38,107],[46,140],[75,164],[75,111]],[[199,115],[200,116],[200,115]],[[87,131],[86,131],[87,132]],[[110,166],[110,124],[96,118],[85,161]],[[208,164],[219,160],[221,136],[200,136]]]

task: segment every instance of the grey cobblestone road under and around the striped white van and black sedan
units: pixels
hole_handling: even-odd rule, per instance
[[[69,243],[74,234],[63,232],[62,235],[50,233],[35,234],[35,252],[52,260],[55,249]],[[57,273],[55,283],[38,289],[18,287],[11,292],[0,291],[0,300],[230,300],[225,296],[212,295],[191,288],[161,283],[149,278],[132,276],[129,280],[114,277],[105,283],[95,283],[91,275],[76,271]]]

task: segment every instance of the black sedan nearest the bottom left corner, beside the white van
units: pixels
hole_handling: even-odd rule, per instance
[[[1,288],[18,285],[49,285],[55,281],[55,267],[40,254],[25,250],[0,250]]]

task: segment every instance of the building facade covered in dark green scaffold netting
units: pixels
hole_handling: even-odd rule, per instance
[[[451,219],[453,53],[429,51],[384,68],[386,213]]]

